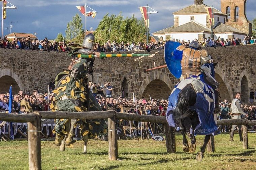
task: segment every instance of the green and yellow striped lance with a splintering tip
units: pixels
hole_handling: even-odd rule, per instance
[[[153,57],[155,54],[105,54],[103,52],[100,53],[100,58],[110,58],[110,57],[133,57],[133,56],[137,56],[137,57],[141,57],[141,56],[149,56],[149,57]],[[86,54],[76,54],[74,55],[74,57],[77,58],[95,58],[98,57],[95,54],[90,54],[90,55],[86,55]]]

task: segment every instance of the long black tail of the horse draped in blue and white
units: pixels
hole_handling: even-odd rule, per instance
[[[172,111],[174,119],[180,120],[191,115],[194,111],[189,109],[196,103],[196,92],[191,84],[186,85],[179,93],[178,103]]]

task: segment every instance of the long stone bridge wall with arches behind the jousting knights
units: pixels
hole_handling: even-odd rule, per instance
[[[235,92],[242,93],[242,101],[248,102],[249,91],[256,88],[256,46],[236,46],[207,48],[209,54],[218,61],[216,80],[220,83],[221,100],[233,99]],[[154,51],[155,52],[155,51]],[[0,92],[7,92],[13,85],[14,93],[18,90],[32,90],[38,87],[41,92],[47,90],[51,78],[66,69],[70,58],[66,53],[0,49]],[[167,99],[173,86],[178,83],[167,68],[146,71],[156,66],[165,65],[164,51],[159,50],[154,58],[144,57],[142,62],[131,58],[96,58],[93,76],[95,83],[111,82],[113,96],[125,95],[132,98],[133,93],[139,98]]]

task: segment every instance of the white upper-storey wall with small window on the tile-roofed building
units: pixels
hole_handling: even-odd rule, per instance
[[[193,15],[174,15],[173,18],[179,16],[179,26],[189,23],[190,17],[194,16],[194,21],[206,27],[206,16],[207,14],[193,14]]]

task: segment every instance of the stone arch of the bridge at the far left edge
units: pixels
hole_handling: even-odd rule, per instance
[[[17,74],[9,69],[0,69],[0,92],[6,93],[9,91],[10,85],[12,85],[13,94],[17,94],[19,90],[24,90],[22,81]]]

